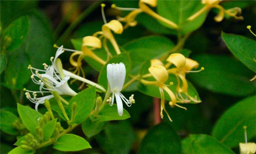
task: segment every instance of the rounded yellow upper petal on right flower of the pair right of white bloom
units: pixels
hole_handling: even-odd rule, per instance
[[[180,53],[171,54],[166,61],[174,64],[178,70],[180,70],[186,64],[186,58]]]

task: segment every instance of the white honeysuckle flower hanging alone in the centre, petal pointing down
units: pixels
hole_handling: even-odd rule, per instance
[[[107,65],[107,78],[109,81],[110,90],[112,92],[112,98],[110,97],[108,102],[109,105],[112,106],[116,97],[117,111],[120,116],[123,115],[122,101],[124,101],[124,103],[129,107],[135,102],[133,99],[134,95],[132,95],[128,100],[123,94],[120,93],[124,85],[125,75],[126,69],[123,62],[120,62],[119,64],[112,63]]]

